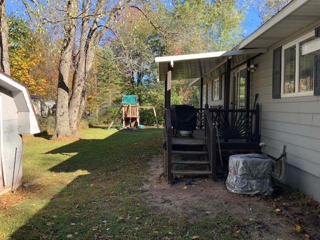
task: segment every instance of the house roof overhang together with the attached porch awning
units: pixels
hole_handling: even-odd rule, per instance
[[[319,12],[320,0],[292,0],[231,51],[156,57],[159,79],[165,80],[168,64],[172,63],[172,80],[218,76],[226,71],[228,57],[232,57],[233,68],[311,24],[320,25]]]

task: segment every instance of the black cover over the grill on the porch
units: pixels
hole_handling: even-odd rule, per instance
[[[177,130],[191,131],[196,128],[196,113],[193,106],[172,105],[171,121]]]

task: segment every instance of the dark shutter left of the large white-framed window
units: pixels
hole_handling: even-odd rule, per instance
[[[272,98],[281,97],[281,46],[273,50]]]

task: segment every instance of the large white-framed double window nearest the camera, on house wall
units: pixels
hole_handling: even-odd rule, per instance
[[[313,33],[282,47],[281,96],[313,95],[313,55],[302,55],[302,43]]]

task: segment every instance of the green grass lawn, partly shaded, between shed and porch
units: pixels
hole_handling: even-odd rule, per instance
[[[227,210],[196,222],[152,210],[141,186],[162,151],[162,129],[79,133],[26,137],[22,182],[37,181],[18,189],[27,199],[0,212],[1,239],[246,239]]]

